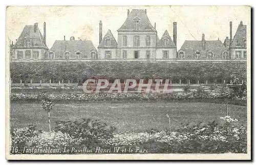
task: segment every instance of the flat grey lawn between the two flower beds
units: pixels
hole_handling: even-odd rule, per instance
[[[171,115],[172,129],[182,124],[194,125],[198,122],[220,121],[226,113],[225,104],[216,103],[168,103],[168,102],[135,102],[135,103],[67,103],[54,104],[51,112],[51,126],[55,121],[79,120],[90,117],[117,128],[117,131],[140,132],[147,129],[164,130],[168,127],[166,114]],[[230,116],[247,125],[246,106],[228,105]],[[39,103],[11,102],[11,127],[28,127],[36,125],[39,129],[48,130],[48,114]]]

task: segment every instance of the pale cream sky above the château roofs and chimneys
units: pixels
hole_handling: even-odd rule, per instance
[[[46,42],[50,49],[55,40],[92,40],[99,45],[99,21],[102,20],[103,37],[110,29],[117,40],[119,29],[127,17],[127,9],[146,9],[152,25],[156,22],[159,38],[165,30],[173,38],[173,22],[177,22],[177,49],[185,40],[218,40],[229,37],[240,21],[250,32],[250,7],[248,6],[10,6],[6,13],[6,37],[15,42],[25,25],[38,22],[43,34],[46,22]],[[248,34],[248,33],[247,33]],[[8,42],[8,40],[7,40]]]

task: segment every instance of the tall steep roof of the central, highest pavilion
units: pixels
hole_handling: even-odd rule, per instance
[[[135,18],[140,19],[140,30],[156,30],[148,19],[145,10],[133,9],[129,15],[127,15],[126,20],[123,25],[117,30],[133,30],[133,20]]]

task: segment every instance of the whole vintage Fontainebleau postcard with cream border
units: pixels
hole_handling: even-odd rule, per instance
[[[251,159],[249,6],[8,6],[6,158]]]

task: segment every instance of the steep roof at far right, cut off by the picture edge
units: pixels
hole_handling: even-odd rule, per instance
[[[242,47],[244,48],[243,40],[246,39],[246,25],[241,21],[236,34],[232,40],[231,48]]]

